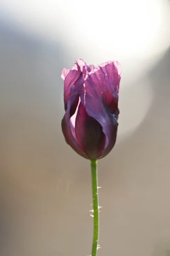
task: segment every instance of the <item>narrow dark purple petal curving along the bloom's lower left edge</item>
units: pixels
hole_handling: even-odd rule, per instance
[[[77,154],[79,154],[80,156],[82,156],[86,159],[89,159],[87,157],[87,155],[85,154],[85,152],[83,152],[82,149],[79,147],[77,140],[76,140],[74,127],[70,121],[70,109],[71,109],[72,102],[75,101],[75,99],[73,99],[73,97],[71,97],[71,98],[68,100],[67,110],[62,119],[62,132],[64,134],[66,143],[68,143],[68,145],[70,145],[71,148],[73,148],[74,151],[77,152]]]

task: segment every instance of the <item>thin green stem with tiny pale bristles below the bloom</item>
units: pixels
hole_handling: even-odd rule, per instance
[[[99,204],[98,204],[98,185],[97,185],[97,160],[91,160],[91,183],[93,195],[93,215],[94,215],[94,230],[93,244],[91,256],[97,255],[98,239],[99,239]]]

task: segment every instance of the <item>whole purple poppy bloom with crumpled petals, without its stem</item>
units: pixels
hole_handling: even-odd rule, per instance
[[[62,70],[62,132],[66,142],[82,157],[105,157],[116,142],[120,75],[117,61],[94,67],[76,59],[71,70]]]

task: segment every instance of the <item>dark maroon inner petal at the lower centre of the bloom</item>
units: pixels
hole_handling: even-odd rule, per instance
[[[77,143],[90,159],[101,157],[105,146],[105,134],[99,122],[88,116],[81,102],[76,117],[75,134]]]

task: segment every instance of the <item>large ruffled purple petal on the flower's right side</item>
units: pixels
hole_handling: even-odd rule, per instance
[[[120,68],[117,61],[108,61],[92,70],[85,77],[85,94],[81,101],[89,116],[94,117],[106,136],[102,157],[116,142],[118,127]]]

